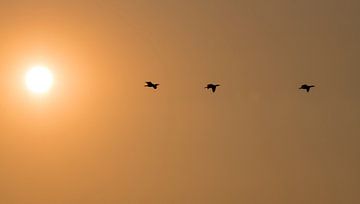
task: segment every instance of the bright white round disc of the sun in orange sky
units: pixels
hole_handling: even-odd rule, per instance
[[[53,85],[54,77],[45,66],[34,66],[27,73],[25,83],[27,88],[36,94],[48,92]]]

